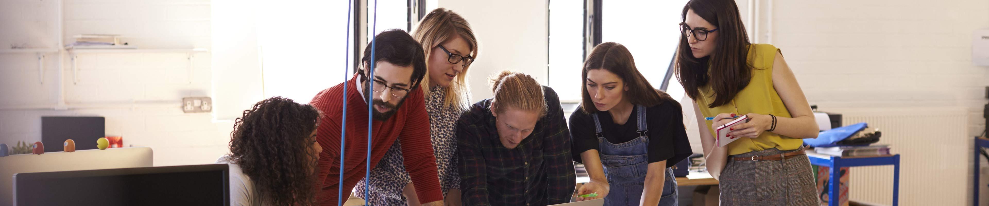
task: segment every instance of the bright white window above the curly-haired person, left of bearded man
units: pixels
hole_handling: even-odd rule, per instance
[[[305,104],[320,90],[343,82],[344,63],[352,62],[344,56],[350,52],[345,44],[353,40],[352,35],[346,37],[347,1],[258,4],[257,36],[266,98],[282,96]]]

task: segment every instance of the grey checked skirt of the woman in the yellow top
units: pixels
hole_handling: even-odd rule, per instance
[[[778,155],[794,151],[769,149],[728,156],[719,178],[721,205],[821,205],[806,154],[782,160],[735,160],[735,157]]]

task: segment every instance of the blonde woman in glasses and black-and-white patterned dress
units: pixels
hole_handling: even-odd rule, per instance
[[[422,79],[424,86],[421,88],[429,114],[429,132],[440,187],[447,205],[461,205],[454,129],[457,118],[470,106],[466,73],[478,55],[478,41],[467,20],[444,8],[429,12],[412,36],[425,51],[428,77]],[[355,196],[367,198],[372,205],[418,204],[414,186],[403,165],[400,146],[401,143],[396,142],[371,171],[369,186],[363,181],[358,183]],[[366,186],[370,197],[364,196]]]

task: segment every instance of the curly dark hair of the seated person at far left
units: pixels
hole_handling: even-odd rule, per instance
[[[320,113],[282,97],[254,104],[230,133],[229,160],[254,181],[267,205],[315,205],[316,157],[310,134]]]

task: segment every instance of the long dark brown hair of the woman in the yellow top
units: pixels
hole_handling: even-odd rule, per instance
[[[714,101],[707,106],[713,108],[725,105],[748,86],[752,78],[753,66],[746,58],[749,54],[748,47],[752,45],[749,43],[749,35],[734,0],[690,0],[683,6],[681,20],[686,20],[689,10],[717,27],[717,48],[709,56],[695,58],[687,44],[687,38],[680,36],[674,68],[676,78],[691,99],[699,98],[699,88],[710,84],[714,91]]]

